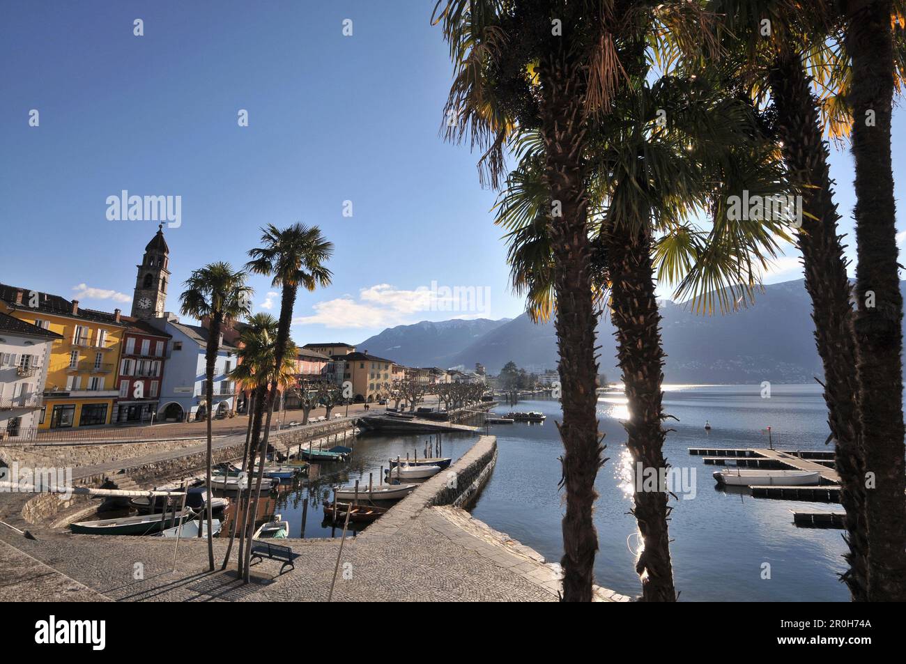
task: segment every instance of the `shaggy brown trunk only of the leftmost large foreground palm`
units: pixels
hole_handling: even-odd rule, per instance
[[[561,40],[558,43],[562,44]],[[557,345],[563,393],[563,479],[566,488],[564,534],[564,601],[591,601],[598,534],[592,511],[594,479],[602,466],[596,417],[594,356],[596,315],[589,271],[583,148],[583,72],[566,54],[542,60],[541,135],[545,141],[545,184],[550,189],[549,233],[554,250]],[[559,216],[558,216],[559,213]]]

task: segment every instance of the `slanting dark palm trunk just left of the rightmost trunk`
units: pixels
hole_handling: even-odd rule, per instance
[[[805,267],[805,290],[812,298],[814,341],[824,365],[824,402],[831,438],[836,441],[836,469],[840,474],[840,502],[846,510],[843,574],[854,601],[865,601],[868,591],[868,541],[865,526],[865,478],[861,426],[857,403],[852,289],[846,274],[843,245],[837,235],[837,207],[822,139],[817,100],[802,59],[786,45],[777,54],[769,74],[777,112],[776,126],[783,141],[790,180],[803,197],[803,215],[797,235]]]

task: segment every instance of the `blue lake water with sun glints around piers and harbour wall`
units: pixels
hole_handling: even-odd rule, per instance
[[[676,585],[685,601],[847,601],[837,575],[844,570],[843,531],[797,528],[796,508],[839,510],[840,505],[752,498],[728,494],[715,487],[700,457],[688,447],[767,447],[762,431],[772,428],[774,445],[787,449],[827,449],[827,425],[821,389],[811,385],[773,385],[763,399],[759,386],[666,386],[664,407],[679,421],[665,444],[670,464],[692,477],[688,499],[671,500],[670,553]],[[560,522],[564,494],[557,491],[563,446],[554,420],[561,417],[553,399],[520,401],[519,410],[541,410],[544,424],[516,423],[490,427],[497,437],[498,460],[472,514],[499,531],[559,562],[563,554]],[[506,412],[498,407],[497,412]],[[631,464],[621,419],[626,417],[622,393],[598,401],[601,430],[606,433],[605,456],[610,460],[598,474],[600,497],[594,522],[600,551],[595,558],[599,585],[634,595],[640,592],[634,572],[638,545],[635,519],[629,514]],[[712,426],[704,430],[705,420]],[[278,513],[291,524],[290,535],[302,531],[303,500],[309,499],[306,537],[330,537],[339,531],[323,518],[323,502],[333,499],[333,487],[367,486],[369,473],[378,482],[388,459],[418,450],[422,457],[429,436],[370,436],[356,439],[352,460],[344,465],[313,467],[302,486],[284,488],[276,497],[262,498],[259,515]],[[475,442],[471,435],[443,437],[443,456],[460,457]],[[765,563],[770,578],[763,578]]]

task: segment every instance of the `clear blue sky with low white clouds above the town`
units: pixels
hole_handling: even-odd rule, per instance
[[[333,285],[300,294],[298,342],[355,343],[401,323],[518,315],[491,223],[494,193],[478,185],[477,155],[438,135],[451,66],[429,24],[433,5],[5,4],[0,281],[128,311],[135,265],[157,224],[107,219],[107,197],[126,189],[181,197],[181,226],[165,228],[171,311],[193,268],[242,265],[260,226],[302,221],[336,247]],[[144,36],[133,34],[137,18]],[[352,36],[342,34],[344,19]],[[38,127],[28,125],[32,109]],[[248,127],[238,126],[241,109]],[[897,111],[898,176],[902,122]],[[832,172],[851,233],[848,153],[834,151]],[[766,281],[799,274],[791,250]],[[250,283],[258,308],[276,313],[267,280]],[[433,286],[477,289],[480,311],[426,310]]]

